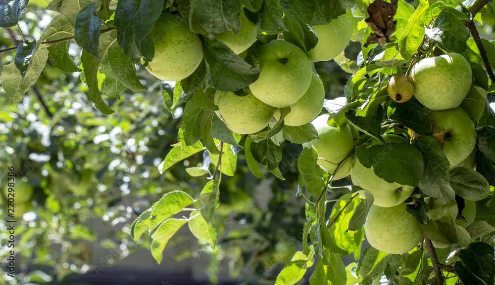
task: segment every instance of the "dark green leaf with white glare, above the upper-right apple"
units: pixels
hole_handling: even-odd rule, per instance
[[[444,48],[457,53],[466,50],[466,41],[470,37],[468,29],[459,17],[448,9],[440,12],[433,29],[425,29],[425,34]]]

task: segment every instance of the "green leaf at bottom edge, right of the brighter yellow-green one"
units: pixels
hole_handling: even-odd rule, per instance
[[[342,257],[330,253],[328,260],[330,266],[323,264],[321,258],[318,259],[313,274],[309,278],[310,285],[345,285],[347,283],[346,265]]]

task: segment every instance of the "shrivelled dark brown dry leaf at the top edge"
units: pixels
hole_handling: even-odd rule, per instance
[[[391,3],[384,0],[375,0],[371,3],[366,11],[370,15],[364,21],[368,24],[373,33],[364,43],[364,47],[372,43],[378,43],[383,46],[387,42],[391,42],[389,37],[396,30],[397,21],[394,21],[394,15],[397,11],[397,1],[391,0]]]

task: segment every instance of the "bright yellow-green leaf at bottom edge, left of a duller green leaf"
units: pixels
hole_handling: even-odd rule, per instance
[[[308,267],[313,265],[313,256],[310,254],[306,256],[301,251],[297,251],[294,254],[291,262],[287,263],[282,271],[277,276],[275,285],[294,285],[296,284],[306,273]]]

